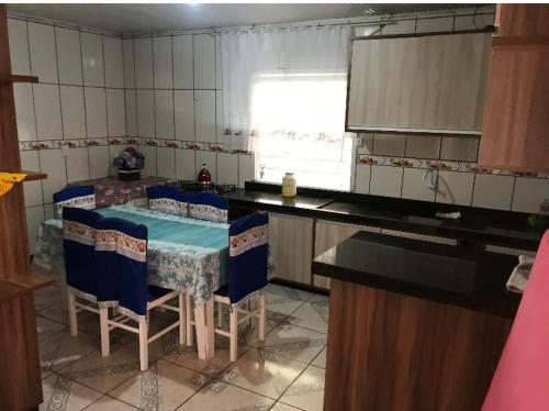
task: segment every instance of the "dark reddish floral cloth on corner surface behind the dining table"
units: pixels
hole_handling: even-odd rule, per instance
[[[147,187],[165,185],[172,181],[163,177],[142,177],[135,181],[119,180],[117,177],[97,178],[76,181],[70,186],[96,187],[96,204],[98,207],[122,206],[136,199],[147,197]]]

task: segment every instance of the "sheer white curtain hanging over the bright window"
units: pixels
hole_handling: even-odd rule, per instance
[[[249,149],[251,137],[264,179],[279,180],[287,170],[300,184],[348,189],[351,149],[344,123],[350,33],[341,25],[222,34],[224,144]],[[318,168],[328,182],[314,182]]]

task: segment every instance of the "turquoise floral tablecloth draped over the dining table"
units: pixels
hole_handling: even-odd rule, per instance
[[[228,224],[164,214],[133,206],[97,209],[148,229],[148,284],[193,297],[198,307],[226,284]],[[44,221],[33,264],[65,276],[63,221]]]

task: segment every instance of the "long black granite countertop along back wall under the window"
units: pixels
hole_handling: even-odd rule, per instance
[[[245,208],[289,213],[530,251],[537,249],[545,229],[530,227],[527,213],[347,191],[300,188],[298,197],[285,199],[280,185],[256,181],[224,196],[229,200],[229,211]],[[442,220],[437,212],[459,212],[461,218]]]

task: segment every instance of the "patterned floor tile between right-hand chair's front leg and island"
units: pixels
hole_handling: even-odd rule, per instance
[[[279,325],[256,344],[276,354],[309,364],[326,345],[326,334],[294,325]]]

